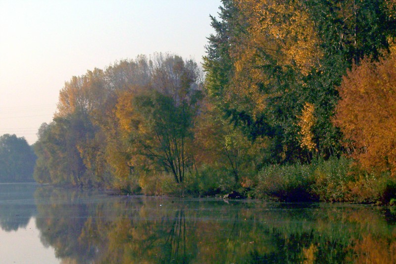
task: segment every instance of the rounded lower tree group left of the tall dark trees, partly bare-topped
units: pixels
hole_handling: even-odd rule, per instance
[[[40,128],[36,180],[133,191],[138,175],[156,171],[183,182],[194,164],[201,78],[197,63],[162,54],[73,77]]]

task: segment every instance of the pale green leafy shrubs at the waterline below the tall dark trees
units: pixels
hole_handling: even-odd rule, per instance
[[[344,201],[350,160],[330,158],[310,164],[268,165],[258,173],[255,196],[286,202]]]

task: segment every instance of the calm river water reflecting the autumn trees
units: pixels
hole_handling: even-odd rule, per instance
[[[0,263],[396,263],[396,211],[0,184]]]

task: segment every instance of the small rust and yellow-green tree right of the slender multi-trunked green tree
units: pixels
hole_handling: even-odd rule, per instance
[[[219,171],[221,179],[234,190],[241,186],[250,187],[249,176],[261,165],[262,152],[268,141],[259,138],[252,143],[247,140],[241,130],[221,117],[219,111],[206,100],[200,107],[194,127],[193,149],[197,166],[199,169],[209,166],[211,174],[214,170]],[[228,179],[229,176],[233,181]]]

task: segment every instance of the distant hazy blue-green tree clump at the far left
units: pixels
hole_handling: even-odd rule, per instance
[[[36,155],[25,138],[0,137],[0,182],[32,182]]]

